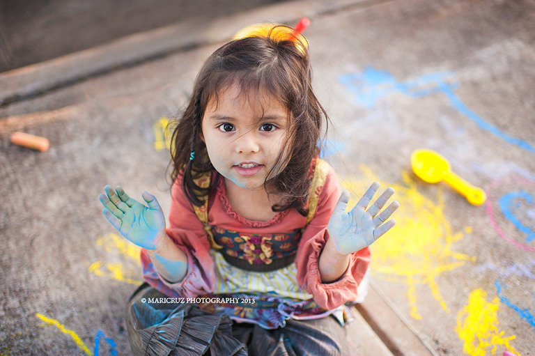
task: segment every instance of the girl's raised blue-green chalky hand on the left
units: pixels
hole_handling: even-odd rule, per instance
[[[165,217],[155,196],[141,194],[148,208],[127,196],[122,187],[104,187],[106,195],[98,199],[104,205],[102,214],[125,238],[139,247],[155,249],[165,234]]]

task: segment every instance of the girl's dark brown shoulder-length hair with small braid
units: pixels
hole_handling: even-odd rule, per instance
[[[284,31],[286,36],[279,36]],[[304,202],[310,189],[309,169],[318,155],[323,118],[328,116],[318,102],[311,87],[309,54],[302,36],[290,36],[293,29],[275,26],[267,36],[252,36],[233,40],[219,47],[204,63],[189,98],[189,103],[173,129],[171,137],[171,180],[183,176],[183,189],[187,199],[201,206],[209,188],[201,189],[194,179],[214,167],[208,159],[206,145],[201,140],[201,123],[210,100],[218,100],[218,92],[232,84],[240,86],[246,95],[273,95],[288,109],[289,149],[281,150],[277,164],[267,175],[268,193],[283,197],[282,205],[273,211],[295,208],[306,216]],[[325,127],[325,130],[327,126]],[[190,155],[194,152],[194,159]],[[286,167],[279,167],[286,163]],[[279,171],[277,176],[272,176]],[[212,187],[215,180],[212,181]]]

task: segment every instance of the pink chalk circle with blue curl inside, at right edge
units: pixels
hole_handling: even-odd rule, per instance
[[[518,189],[501,192],[513,186]],[[506,178],[495,180],[485,190],[486,212],[498,235],[519,249],[535,252],[535,181]]]

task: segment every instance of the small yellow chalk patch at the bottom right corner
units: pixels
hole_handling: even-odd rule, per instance
[[[464,341],[463,351],[471,356],[501,355],[505,348],[514,355],[520,355],[509,341],[515,335],[505,337],[505,332],[498,332],[499,298],[487,302],[487,293],[476,289],[470,293],[468,304],[457,315],[457,327],[461,340]],[[500,348],[499,348],[500,347]]]

